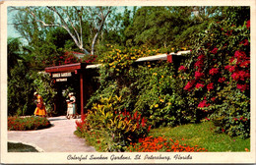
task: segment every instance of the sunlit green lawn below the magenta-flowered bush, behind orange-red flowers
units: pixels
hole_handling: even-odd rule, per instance
[[[210,152],[246,151],[246,148],[250,150],[250,138],[230,138],[225,134],[215,133],[214,128],[212,122],[204,122],[174,128],[153,129],[149,136],[164,136],[191,146],[199,145]]]

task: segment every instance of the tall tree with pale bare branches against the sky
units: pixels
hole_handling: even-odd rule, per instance
[[[111,7],[83,6],[47,6],[16,9],[21,11],[17,15],[17,20],[20,21],[17,25],[23,25],[23,27],[20,27],[18,30],[28,40],[32,40],[32,32],[36,30],[37,32],[42,32],[42,27],[62,27],[69,33],[76,46],[86,54],[90,54],[88,49],[91,46],[91,54],[93,55],[95,54],[95,45],[98,35],[111,12]],[[85,29],[84,26],[87,28]],[[90,31],[91,36],[85,35],[84,30]],[[91,40],[90,45],[85,45],[85,43],[88,43],[87,40]]]

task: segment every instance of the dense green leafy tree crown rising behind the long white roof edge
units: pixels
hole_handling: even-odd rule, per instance
[[[177,11],[182,8],[142,7],[135,13],[133,24],[125,30],[129,45],[167,47],[185,25],[190,15]]]

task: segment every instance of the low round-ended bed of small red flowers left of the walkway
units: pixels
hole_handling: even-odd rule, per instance
[[[50,122],[41,117],[8,117],[9,131],[38,130],[50,127]]]

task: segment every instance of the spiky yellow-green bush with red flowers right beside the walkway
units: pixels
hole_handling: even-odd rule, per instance
[[[120,151],[129,142],[137,141],[148,135],[151,126],[147,119],[138,112],[120,111],[118,103],[121,97],[101,98],[100,103],[95,103],[92,110],[88,110],[85,119],[76,121],[77,134],[83,136],[103,132],[109,138],[108,151]],[[99,141],[99,139],[97,139]]]

